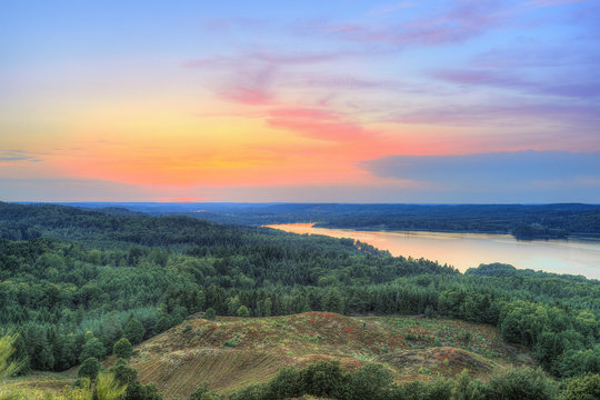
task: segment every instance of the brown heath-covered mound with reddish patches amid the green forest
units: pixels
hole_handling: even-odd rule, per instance
[[[532,364],[486,324],[418,317],[343,317],[308,312],[272,318],[194,318],[137,347],[131,364],[166,398],[188,398],[203,381],[222,393],[266,382],[281,368],[339,360],[349,368],[382,363],[398,381],[486,379],[511,364]]]

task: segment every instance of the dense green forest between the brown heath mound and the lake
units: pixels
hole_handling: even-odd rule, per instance
[[[600,226],[581,219],[577,231]],[[600,282],[583,277],[506,264],[462,274],[348,239],[123,209],[0,203],[0,336],[18,333],[19,373],[101,360],[122,338],[137,344],[198,311],[311,310],[489,323],[557,380],[600,373]]]

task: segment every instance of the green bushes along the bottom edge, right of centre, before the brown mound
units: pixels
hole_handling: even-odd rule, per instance
[[[594,377],[573,380],[563,396],[594,394],[597,384]],[[282,369],[268,383],[244,388],[231,399],[276,400],[303,396],[336,400],[558,400],[559,391],[557,384],[540,370],[528,368],[498,373],[488,383],[471,380],[468,372],[463,371],[457,380],[397,384],[379,364],[370,363],[348,371],[337,362],[320,361],[299,371],[293,368]]]

